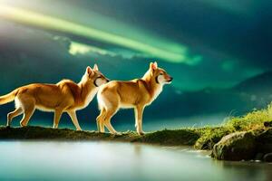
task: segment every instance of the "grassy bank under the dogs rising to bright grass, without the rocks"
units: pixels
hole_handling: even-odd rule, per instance
[[[0,127],[0,139],[50,139],[50,140],[112,140],[141,142],[170,146],[194,146],[197,149],[211,149],[224,136],[237,131],[260,132],[264,123],[272,119],[272,103],[264,110],[253,110],[241,117],[228,119],[219,127],[199,129],[160,130],[139,136],[127,131],[121,136],[96,131],[74,131],[72,129],[51,129],[42,127],[6,128]]]

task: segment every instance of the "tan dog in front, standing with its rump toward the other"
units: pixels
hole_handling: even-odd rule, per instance
[[[97,117],[98,131],[104,132],[104,126],[112,134],[120,134],[112,128],[112,116],[120,108],[133,108],[135,112],[135,127],[142,135],[142,113],[146,106],[155,100],[164,84],[170,83],[173,78],[158,68],[157,62],[151,62],[150,69],[141,79],[132,81],[111,81],[102,85],[98,91],[97,99],[100,115]]]

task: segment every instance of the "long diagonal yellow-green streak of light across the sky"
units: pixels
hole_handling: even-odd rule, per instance
[[[91,26],[77,24],[46,14],[35,13],[34,11],[29,11],[15,6],[1,5],[0,16],[20,24],[33,25],[62,33],[71,33],[102,43],[111,43],[136,52],[148,54],[151,57],[160,58],[168,62],[195,64],[200,62],[202,59],[200,55],[189,57],[188,50],[184,46],[177,43],[165,43],[160,41],[160,39],[153,41],[153,38],[151,38],[152,41],[146,41],[148,43],[143,43],[141,40],[134,40],[129,37],[108,33],[106,31],[92,28]],[[77,43],[75,45],[79,44]],[[83,47],[83,43],[81,46]]]

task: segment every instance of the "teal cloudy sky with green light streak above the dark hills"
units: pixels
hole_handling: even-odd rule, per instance
[[[271,70],[271,7],[268,0],[0,0],[0,94],[80,81],[93,63],[111,80],[141,78],[153,61],[174,78],[168,93],[231,89]]]

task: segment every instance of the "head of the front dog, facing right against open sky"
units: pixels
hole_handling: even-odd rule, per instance
[[[159,84],[169,84],[173,78],[163,69],[158,67],[157,62],[151,62],[150,64],[151,77]]]

